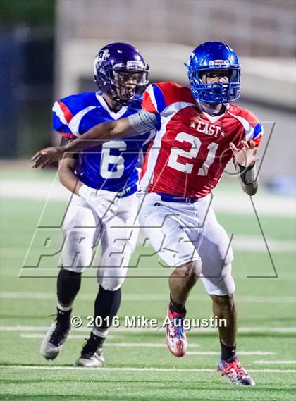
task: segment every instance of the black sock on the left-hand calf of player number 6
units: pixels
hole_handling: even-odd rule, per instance
[[[81,274],[76,271],[63,269],[63,267],[58,273],[56,292],[58,295],[58,304],[60,304],[63,311],[71,307],[80,290]]]

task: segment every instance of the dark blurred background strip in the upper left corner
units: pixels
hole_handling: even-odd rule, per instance
[[[23,157],[51,130],[55,1],[1,0],[0,14],[0,157]]]

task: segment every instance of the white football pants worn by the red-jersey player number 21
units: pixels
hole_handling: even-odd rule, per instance
[[[210,195],[191,204],[164,202],[156,193],[140,195],[139,200],[140,226],[168,266],[202,261],[200,279],[209,294],[235,291],[230,239],[216,220]]]

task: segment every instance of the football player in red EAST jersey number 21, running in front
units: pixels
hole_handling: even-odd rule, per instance
[[[182,357],[187,339],[182,322],[185,303],[197,280],[213,301],[219,327],[221,360],[217,371],[239,385],[254,385],[236,354],[233,252],[211,209],[211,190],[230,159],[242,189],[257,192],[256,152],[262,126],[254,114],[230,102],[240,96],[240,64],[233,49],[206,42],[190,56],[190,88],[175,82],[149,85],[142,110],[119,121],[99,124],[66,147],[43,149],[33,167],[61,159],[65,152],[93,147],[97,140],[158,130],[145,157],[140,180],[140,225],[159,256],[173,267],[166,326],[168,349]],[[86,141],[85,141],[86,140]]]

